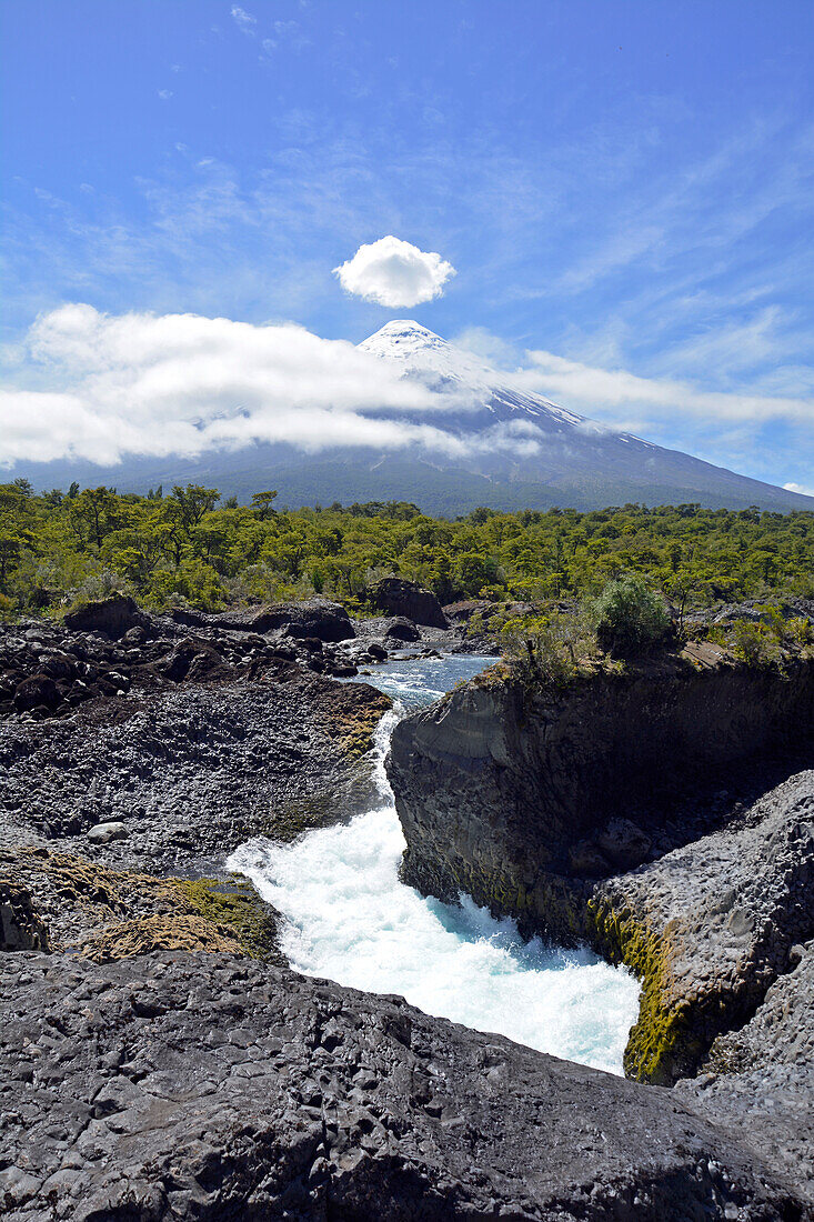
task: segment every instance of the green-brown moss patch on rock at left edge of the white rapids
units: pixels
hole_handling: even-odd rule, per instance
[[[225,929],[254,959],[285,963],[273,910],[248,879],[174,879],[189,908]]]

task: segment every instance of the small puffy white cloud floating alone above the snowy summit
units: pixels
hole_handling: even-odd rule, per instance
[[[346,292],[401,309],[440,297],[455,268],[434,251],[419,251],[389,235],[361,246],[352,259],[334,268],[334,275]]]

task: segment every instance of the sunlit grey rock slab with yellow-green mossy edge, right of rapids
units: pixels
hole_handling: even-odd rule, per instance
[[[814,771],[737,826],[599,884],[588,909],[596,949],[643,980],[626,1072],[667,1083],[694,1073],[788,970],[792,947],[814,937]],[[808,1008],[810,1036],[814,991]]]

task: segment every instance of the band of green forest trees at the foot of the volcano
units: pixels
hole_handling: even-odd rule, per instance
[[[814,596],[814,513],[640,505],[581,513],[478,508],[446,521],[403,501],[248,506],[199,485],[147,496],[111,488],[38,495],[0,485],[0,613],[54,613],[112,590],[160,610],[323,594],[351,611],[386,574],[442,604],[595,596],[639,574],[682,609]]]

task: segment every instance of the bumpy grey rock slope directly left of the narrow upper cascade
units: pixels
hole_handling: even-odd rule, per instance
[[[285,662],[263,675],[94,701],[62,721],[0,721],[0,847],[59,838],[161,873],[353,810],[389,699]],[[93,844],[90,829],[112,821],[127,837]]]

